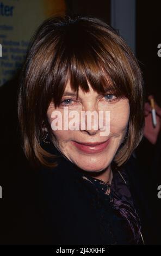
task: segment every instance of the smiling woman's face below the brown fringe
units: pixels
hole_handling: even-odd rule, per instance
[[[108,92],[106,96],[100,95],[91,88],[90,84],[89,87],[88,93],[79,88],[77,99],[68,82],[61,104],[55,108],[51,102],[47,117],[52,129],[55,124],[59,125],[59,129],[53,130],[55,147],[79,168],[99,172],[110,166],[125,137],[129,120],[129,102],[128,99],[117,98]],[[64,107],[66,112],[64,112]],[[68,119],[67,111],[69,115],[72,111],[75,111],[77,115],[70,116]],[[98,121],[97,125],[92,118],[81,119],[81,114],[87,113],[86,111],[88,113],[95,111],[98,114],[98,119],[95,119]],[[103,116],[99,115],[100,111]],[[59,115],[57,115],[58,112]],[[75,125],[71,129],[68,124],[73,117],[75,117]],[[103,122],[100,121],[99,124],[99,120],[102,119]],[[87,122],[91,126],[87,126]],[[109,132],[102,132],[104,125],[109,125],[109,130],[107,129]]]

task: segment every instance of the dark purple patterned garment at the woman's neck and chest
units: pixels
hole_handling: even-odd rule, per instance
[[[123,229],[125,243],[138,244],[141,241],[141,224],[129,190],[128,178],[124,169],[113,172],[112,184],[93,178],[88,174],[82,174],[83,180],[94,186],[96,195],[92,198],[92,206],[98,211],[100,218],[100,230],[102,236],[107,233],[112,237],[112,245],[118,243],[113,227],[117,225]],[[108,193],[110,188],[110,193]],[[114,220],[109,220],[107,214],[112,211]],[[118,227],[119,228],[119,227]],[[127,241],[128,240],[128,241]]]

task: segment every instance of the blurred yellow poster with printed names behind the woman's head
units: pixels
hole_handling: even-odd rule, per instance
[[[63,0],[0,0],[0,86],[21,68],[40,23],[61,13],[65,13]]]

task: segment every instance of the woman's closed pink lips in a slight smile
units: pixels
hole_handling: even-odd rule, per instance
[[[80,143],[76,141],[72,141],[75,147],[79,151],[83,151],[84,153],[92,154],[92,153],[100,153],[104,149],[106,149],[107,145],[109,144],[110,139],[105,142],[96,142],[96,143]]]

